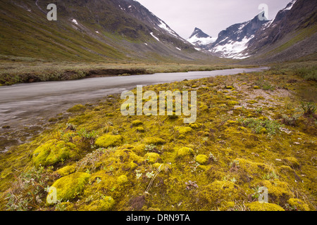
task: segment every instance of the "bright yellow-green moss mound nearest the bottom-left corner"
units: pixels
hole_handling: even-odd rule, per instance
[[[56,188],[57,200],[66,202],[73,200],[79,195],[85,188],[85,184],[89,180],[90,174],[87,173],[75,173],[68,176],[63,176],[54,182],[51,187]],[[50,195],[47,195],[46,202],[50,203]]]

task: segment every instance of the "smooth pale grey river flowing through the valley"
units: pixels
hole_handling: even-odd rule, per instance
[[[184,79],[200,79],[242,72],[259,72],[268,68],[237,68],[199,72],[159,73],[126,77],[97,77],[63,82],[39,82],[0,86],[0,152],[1,135],[9,130],[34,127],[79,103],[88,103],[110,94],[120,94],[137,85],[163,84]],[[168,91],[168,90],[166,90]],[[1,129],[4,125],[11,128]],[[8,140],[7,140],[8,141]],[[2,148],[7,147],[6,142]]]

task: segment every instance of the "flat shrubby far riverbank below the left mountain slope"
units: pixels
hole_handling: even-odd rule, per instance
[[[65,81],[91,77],[144,75],[162,72],[189,72],[252,68],[252,65],[201,65],[181,63],[25,63],[1,62],[0,85]]]

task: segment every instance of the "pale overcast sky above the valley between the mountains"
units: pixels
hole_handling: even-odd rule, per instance
[[[291,0],[137,0],[187,39],[194,27],[212,37],[235,23],[242,23],[259,14],[260,4],[268,5],[269,19]]]

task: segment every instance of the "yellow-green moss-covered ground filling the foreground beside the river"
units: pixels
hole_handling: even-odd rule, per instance
[[[1,155],[1,210],[316,210],[316,88],[279,70],[144,87],[197,91],[194,124],[75,107]]]

